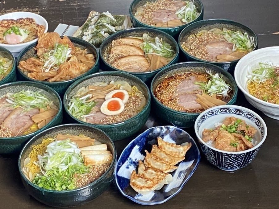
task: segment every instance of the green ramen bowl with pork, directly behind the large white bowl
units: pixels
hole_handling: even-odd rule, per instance
[[[244,55],[258,48],[249,27],[226,19],[201,20],[181,31],[178,44],[188,61],[206,62],[233,73]]]

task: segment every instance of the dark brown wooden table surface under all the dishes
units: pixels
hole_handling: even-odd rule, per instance
[[[276,0],[202,0],[204,19],[227,18],[243,23],[258,34],[259,48],[279,43],[279,2]],[[47,19],[48,31],[59,23],[82,25],[91,10],[129,14],[131,0],[0,0],[0,14],[30,11]],[[279,208],[279,121],[252,108],[239,93],[237,105],[248,107],[263,117],[268,135],[256,159],[236,172],[211,166],[202,156],[194,175],[182,191],[168,202],[152,208]],[[142,128],[158,123],[152,115]],[[195,137],[193,129],[186,129]],[[139,132],[139,133],[140,133]],[[134,137],[117,141],[118,155]],[[17,166],[18,156],[0,156],[0,208],[47,208],[24,189]],[[80,208],[143,208],[120,194],[111,185],[98,198]]]

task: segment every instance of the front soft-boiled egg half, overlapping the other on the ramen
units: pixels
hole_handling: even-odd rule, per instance
[[[101,106],[101,112],[105,115],[118,115],[123,112],[124,108],[125,105],[123,101],[115,97],[104,101]]]

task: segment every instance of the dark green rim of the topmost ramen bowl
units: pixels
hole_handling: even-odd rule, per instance
[[[147,25],[145,23],[142,23],[140,22],[137,18],[135,18],[133,12],[132,12],[132,6],[135,4],[135,1],[137,0],[133,0],[132,3],[130,4],[130,7],[129,7],[129,13],[130,13],[130,16],[137,22],[137,23],[140,23],[142,25],[144,25],[144,27],[147,27],[147,28],[152,28],[152,29],[158,29],[158,30],[172,30],[172,29],[181,29],[181,28],[184,28],[184,27],[187,27],[189,24],[193,23],[196,19],[200,18],[201,15],[203,15],[203,4],[202,4],[202,1],[201,0],[194,0],[195,2],[198,2],[201,6],[201,11],[200,11],[200,14],[198,15],[198,17],[196,19],[194,19],[192,22],[190,23],[185,23],[183,25],[180,25],[180,26],[176,26],[176,27],[155,27],[155,26],[151,26],[151,25]],[[140,2],[141,0],[139,0]],[[197,22],[197,21],[196,21]]]

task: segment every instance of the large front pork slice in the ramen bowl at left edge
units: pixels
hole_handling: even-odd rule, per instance
[[[31,117],[39,112],[40,109],[36,108],[25,111],[21,107],[18,107],[3,121],[2,126],[11,132],[11,137],[18,136],[34,124]]]

